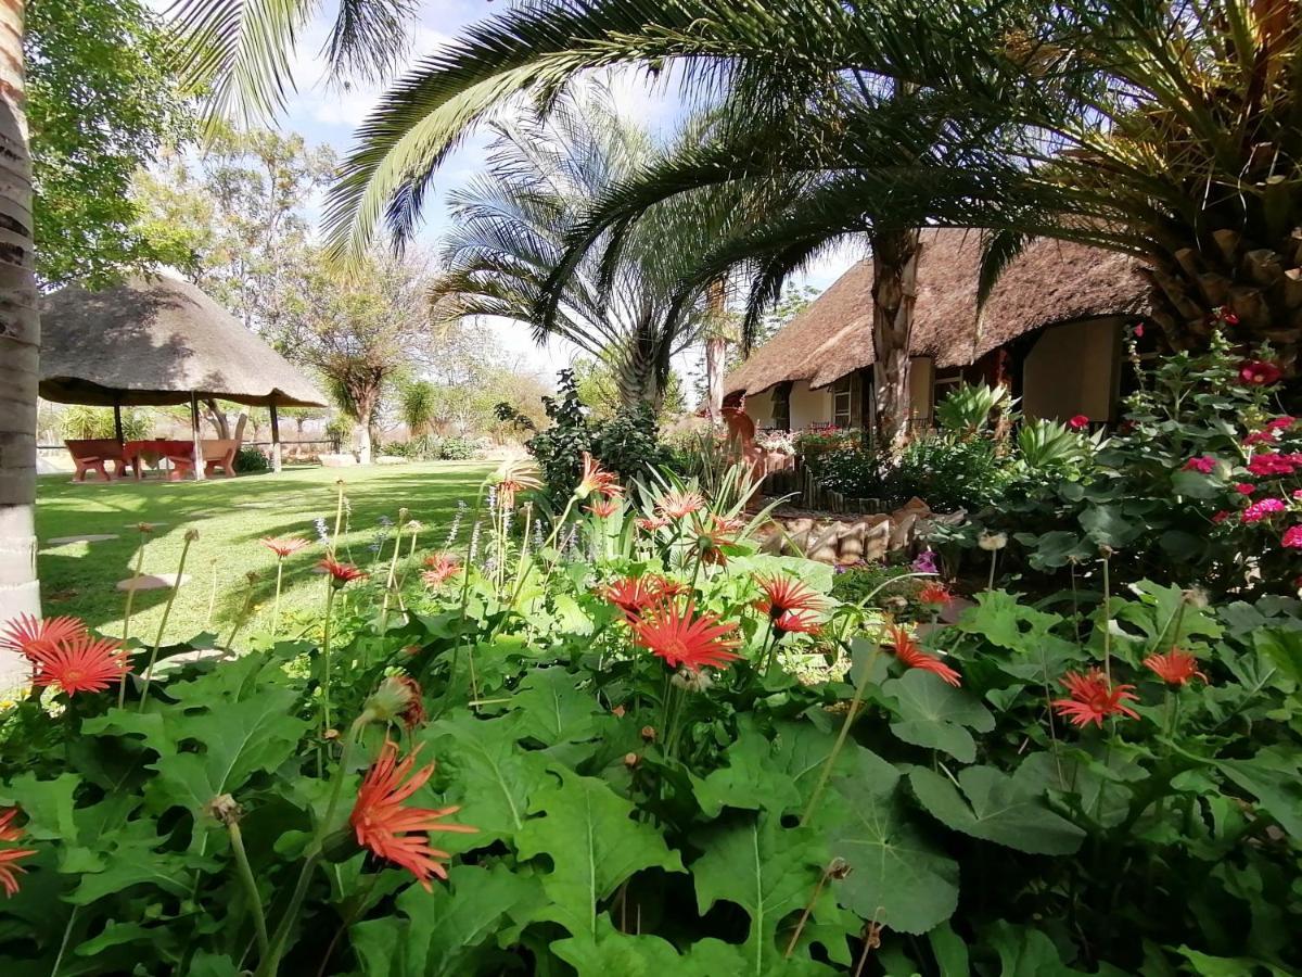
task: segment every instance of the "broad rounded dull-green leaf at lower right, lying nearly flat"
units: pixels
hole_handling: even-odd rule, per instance
[[[1040,793],[993,767],[966,767],[958,788],[923,767],[909,771],[922,806],[954,831],[1032,855],[1072,855],[1085,832],[1044,806]]]

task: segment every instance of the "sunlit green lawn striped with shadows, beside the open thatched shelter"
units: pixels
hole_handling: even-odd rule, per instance
[[[165,641],[185,640],[204,629],[217,630],[224,638],[246,601],[246,573],[255,571],[258,610],[242,632],[247,637],[271,625],[276,558],[258,542],[260,537],[297,534],[312,541],[312,546],[285,561],[281,610],[283,615],[296,610],[311,615],[320,607],[322,578],[310,571],[323,550],[312,521],[322,516],[333,526],[337,479],[344,479],[352,505],[341,548],[346,546],[355,563],[370,568],[375,558],[368,547],[381,516],[396,520],[398,508],[405,505],[411,518],[424,524],[418,552],[435,548],[447,538],[457,500],[474,505],[479,483],[491,468],[484,462],[428,462],[311,468],[208,482],[108,485],[72,485],[68,475],[46,475],[36,487],[44,612],[72,614],[96,630],[121,636],[126,595],[113,585],[132,576],[141,541],[137,524],[155,522],[158,529],[148,537],[145,551],[145,573],[176,572],[186,530],[199,530],[186,560],[189,581],[177,594]],[[462,530],[462,539],[467,529]],[[117,539],[62,546],[47,542],[99,533],[116,533]],[[214,577],[216,602],[210,621]],[[167,590],[135,594],[134,636],[152,642],[167,598]]]

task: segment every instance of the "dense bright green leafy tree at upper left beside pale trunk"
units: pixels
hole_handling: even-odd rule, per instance
[[[29,0],[23,52],[42,281],[102,285],[169,259],[129,194],[190,130],[160,20],[138,0]]]

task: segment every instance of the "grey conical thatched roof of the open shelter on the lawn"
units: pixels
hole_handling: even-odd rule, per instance
[[[324,406],[280,353],[187,281],[69,285],[40,304],[40,396],[61,404]]]

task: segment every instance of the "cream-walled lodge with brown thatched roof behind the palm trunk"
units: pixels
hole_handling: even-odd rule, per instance
[[[911,343],[913,419],[930,425],[937,393],[1001,380],[1036,417],[1113,419],[1121,333],[1148,309],[1133,258],[1039,240],[1004,274],[976,320],[976,231],[923,232]],[[760,427],[859,426],[871,417],[872,263],[846,271],[728,375]],[[867,395],[867,396],[865,396]]]

